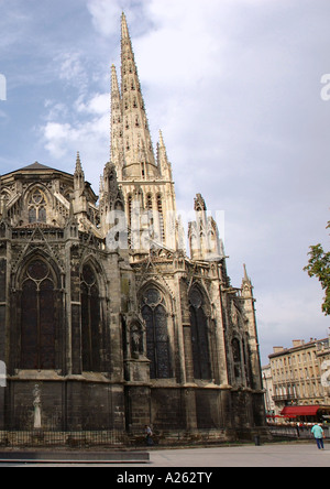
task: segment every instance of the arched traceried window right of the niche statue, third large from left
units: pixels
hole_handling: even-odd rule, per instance
[[[142,316],[146,324],[146,351],[151,360],[151,379],[172,377],[170,348],[165,301],[157,289],[148,289],[143,296]]]

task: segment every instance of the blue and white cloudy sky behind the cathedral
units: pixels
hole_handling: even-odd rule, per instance
[[[329,0],[0,0],[0,173],[35,161],[73,173],[80,151],[98,193],[124,11],[177,207],[187,213],[201,193],[210,213],[224,210],[228,271],[240,286],[246,263],[263,363],[273,346],[326,337],[323,293],[302,268],[310,244],[329,247]]]

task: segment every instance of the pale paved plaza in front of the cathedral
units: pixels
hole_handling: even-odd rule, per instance
[[[61,463],[3,463],[0,467],[62,467]],[[66,467],[84,467],[86,464],[65,464]],[[89,464],[90,467],[119,467],[129,474],[130,467],[144,468],[190,468],[205,471],[212,467],[330,467],[330,444],[319,450],[312,442],[267,444],[262,446],[219,446],[212,448],[151,449],[147,464]],[[123,471],[123,474],[124,474]]]

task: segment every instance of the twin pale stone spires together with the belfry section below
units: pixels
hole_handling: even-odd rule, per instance
[[[116,67],[111,68],[111,163],[124,199],[132,249],[143,254],[140,237],[147,235],[146,228],[150,228],[150,239],[144,242],[155,241],[161,247],[175,249],[177,215],[172,166],[162,133],[157,157],[153,151],[124,14],[121,19],[121,93]]]

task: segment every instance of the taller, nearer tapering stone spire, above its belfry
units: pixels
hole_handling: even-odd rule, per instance
[[[113,82],[113,85],[116,91],[116,82]],[[123,177],[145,180],[156,176],[158,169],[155,164],[138,68],[124,13],[121,19],[121,91]],[[118,129],[112,126],[112,130]],[[119,151],[119,149],[116,151]],[[114,154],[112,154],[112,157],[116,161],[117,156]]]

